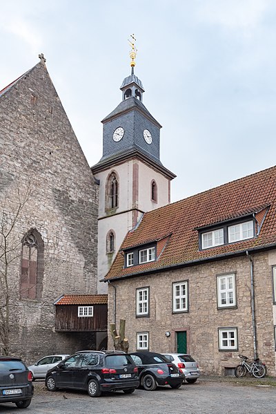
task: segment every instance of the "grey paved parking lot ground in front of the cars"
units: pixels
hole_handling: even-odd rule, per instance
[[[244,385],[246,384],[246,385]],[[91,398],[84,392],[50,393],[43,382],[34,382],[35,395],[25,414],[274,414],[276,388],[264,383],[236,379],[199,379],[178,390],[160,387],[156,391],[136,390],[132,395],[110,393]],[[18,413],[14,404],[0,404],[0,414]]]

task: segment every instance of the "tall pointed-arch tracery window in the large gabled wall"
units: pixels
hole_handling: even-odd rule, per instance
[[[37,229],[30,229],[22,240],[21,299],[41,299],[43,272],[44,243]]]

